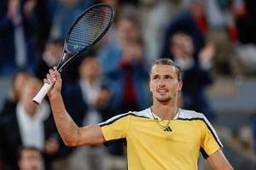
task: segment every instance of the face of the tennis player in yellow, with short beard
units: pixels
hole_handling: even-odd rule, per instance
[[[168,103],[177,98],[183,82],[177,79],[176,68],[172,65],[154,65],[151,70],[149,88],[154,100]]]

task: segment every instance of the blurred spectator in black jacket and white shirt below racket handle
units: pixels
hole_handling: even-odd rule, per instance
[[[20,146],[34,146],[44,150],[44,166],[50,169],[51,161],[59,151],[59,136],[56,131],[49,104],[32,102],[33,97],[42,87],[38,79],[30,78],[23,86],[15,112],[2,116],[1,155],[3,165],[18,169],[17,150]]]

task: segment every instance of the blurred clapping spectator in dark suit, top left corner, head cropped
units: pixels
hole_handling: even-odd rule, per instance
[[[37,31],[34,14],[37,0],[1,1],[0,74],[12,75],[16,68],[33,68],[35,61],[32,36]]]

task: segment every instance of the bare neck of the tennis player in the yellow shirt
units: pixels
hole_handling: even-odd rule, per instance
[[[154,101],[151,111],[162,120],[172,120],[177,115],[177,102],[170,102],[167,105],[163,105],[159,101]]]

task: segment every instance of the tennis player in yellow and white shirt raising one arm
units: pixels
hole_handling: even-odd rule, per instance
[[[177,107],[182,76],[183,72],[172,59],[156,60],[150,68],[148,83],[153,105],[89,127],[77,127],[68,115],[61,98],[61,75],[56,67],[49,70],[44,82],[55,79],[48,96],[56,126],[67,146],[126,139],[129,170],[196,170],[200,151],[213,169],[233,169],[207,118]]]

